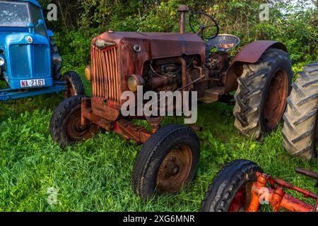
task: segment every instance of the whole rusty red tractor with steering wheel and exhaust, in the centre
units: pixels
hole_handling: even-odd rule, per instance
[[[280,42],[256,41],[235,57],[228,51],[240,43],[234,35],[219,35],[217,21],[206,13],[180,6],[179,33],[116,32],[109,30],[91,42],[93,97],[72,97],[54,112],[50,130],[54,141],[66,147],[90,138],[100,129],[144,144],[136,159],[133,187],[141,198],[179,191],[191,182],[199,162],[200,143],[189,126],[161,127],[163,117],[123,117],[125,91],[197,92],[199,102],[232,99],[236,91],[235,126],[252,138],[261,138],[280,123],[290,93],[292,70]],[[213,48],[216,47],[216,51]],[[135,93],[137,95],[137,93]],[[148,121],[151,130],[134,119]]]

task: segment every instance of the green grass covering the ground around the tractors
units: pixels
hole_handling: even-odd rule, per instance
[[[89,83],[86,88],[90,93]],[[204,131],[199,133],[201,160],[195,181],[178,194],[143,203],[131,189],[140,146],[114,133],[100,133],[66,150],[52,142],[49,120],[62,100],[63,95],[46,95],[0,104],[0,211],[197,211],[218,170],[235,159],[252,160],[268,174],[315,191],[314,181],[295,174],[295,167],[318,172],[317,160],[290,157],[281,145],[281,129],[264,143],[240,136],[232,107],[214,103],[199,107],[198,124]],[[164,123],[180,124],[182,119]],[[49,187],[57,189],[55,206],[47,203]]]

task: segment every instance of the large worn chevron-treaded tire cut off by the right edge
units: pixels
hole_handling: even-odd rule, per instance
[[[284,115],[283,147],[290,155],[311,160],[317,157],[318,62],[305,66],[288,97]]]

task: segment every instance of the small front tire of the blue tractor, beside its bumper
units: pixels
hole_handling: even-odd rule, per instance
[[[69,87],[68,97],[85,95],[84,86],[78,73],[68,71],[64,73],[63,79]]]

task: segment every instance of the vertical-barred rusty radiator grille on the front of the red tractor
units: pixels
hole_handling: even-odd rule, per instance
[[[121,82],[117,47],[98,49],[92,46],[93,96],[115,102],[121,99]]]

